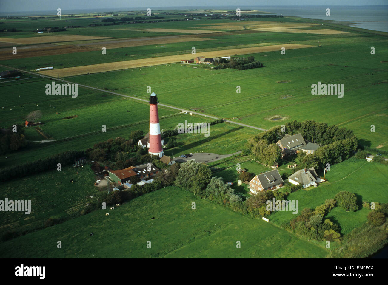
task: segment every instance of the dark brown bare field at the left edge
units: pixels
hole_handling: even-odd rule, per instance
[[[71,54],[74,52],[89,52],[91,50],[95,50],[95,48],[75,47],[73,45],[60,45],[60,46],[50,45],[49,47],[41,47],[41,48],[19,47],[17,48],[17,54],[12,54],[9,48],[2,48],[0,50],[0,58],[2,60],[23,59],[26,57],[38,57],[38,56],[44,56],[44,55]]]

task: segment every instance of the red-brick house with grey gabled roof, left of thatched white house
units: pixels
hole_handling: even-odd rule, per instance
[[[248,188],[252,193],[257,194],[259,191],[275,190],[283,186],[283,180],[277,169],[267,171],[256,175],[249,181]]]

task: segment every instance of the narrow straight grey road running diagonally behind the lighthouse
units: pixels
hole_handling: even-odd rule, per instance
[[[41,77],[49,78],[49,79],[55,80],[55,81],[69,82],[71,84],[78,84],[78,86],[82,86],[82,87],[85,87],[85,88],[93,89],[93,90],[96,90],[96,91],[99,91],[99,92],[105,92],[105,93],[109,93],[109,94],[113,94],[113,95],[119,95],[119,96],[123,96],[123,97],[127,97],[127,98],[131,98],[131,99],[134,99],[134,100],[139,100],[139,101],[147,102],[148,103],[148,100],[140,99],[140,98],[137,98],[137,97],[132,97],[132,96],[128,96],[128,95],[124,95],[124,94],[120,94],[120,93],[116,93],[116,92],[112,92],[112,91],[107,91],[107,90],[104,90],[104,89],[100,89],[100,88],[96,88],[96,87],[92,87],[92,86],[88,86],[88,85],[83,85],[83,84],[79,84],[79,83],[76,83],[76,82],[71,82],[71,81],[64,80],[64,79],[58,79],[58,78],[54,78],[54,77],[51,77],[51,76],[47,76],[47,75],[43,75],[43,74],[31,72],[31,71],[26,71],[26,70],[23,70],[23,69],[17,69],[17,68],[11,67],[11,66],[5,66],[5,65],[2,65],[2,64],[0,64],[0,66],[5,67],[5,68],[10,68],[10,69],[15,69],[15,70],[21,71],[23,73],[39,75]],[[193,112],[191,110],[185,110],[185,109],[182,109],[182,108],[173,107],[173,106],[166,105],[166,104],[159,103],[158,105],[163,106],[163,107],[167,107],[167,108],[171,108],[171,109],[175,109],[175,110],[179,110],[179,111],[182,111],[182,112],[188,112],[188,113],[196,114],[198,116],[203,116],[203,117],[207,117],[207,118],[211,118],[211,119],[219,119],[218,117],[215,117],[215,116],[205,115],[205,114],[202,114],[202,113]],[[257,127],[254,127],[254,126],[250,126],[250,125],[242,124],[242,123],[237,123],[237,122],[234,122],[234,121],[226,120],[226,122],[232,123],[232,124],[236,124],[236,125],[239,125],[239,126],[244,126],[244,127],[247,127],[247,128],[252,128],[252,129],[255,129],[255,130],[267,131],[267,130],[262,129],[262,128],[257,128]]]

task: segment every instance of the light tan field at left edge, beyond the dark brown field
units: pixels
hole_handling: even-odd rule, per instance
[[[98,39],[109,39],[109,37],[101,37],[101,36],[74,36],[74,35],[66,35],[66,36],[53,36],[52,34],[44,35],[39,34],[38,36],[33,36],[30,38],[0,38],[0,42],[4,41],[6,43],[19,43],[21,45],[32,45],[36,43],[54,43],[57,41],[82,41],[82,40],[98,40]]]

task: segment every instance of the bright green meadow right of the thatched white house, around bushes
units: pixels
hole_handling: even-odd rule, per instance
[[[339,164],[331,166],[325,178],[328,180],[317,188],[310,187],[307,190],[298,190],[288,195],[288,200],[298,200],[299,213],[304,208],[315,209],[324,204],[326,199],[334,198],[340,191],[348,191],[356,194],[359,211],[346,212],[335,207],[325,218],[341,226],[341,234],[350,233],[353,228],[361,226],[367,221],[367,214],[370,210],[362,208],[362,201],[367,202],[388,202],[388,166],[366,162],[364,159],[348,159]],[[377,183],[377,181],[379,181]],[[269,219],[277,225],[284,225],[297,215],[292,212],[274,212]]]

